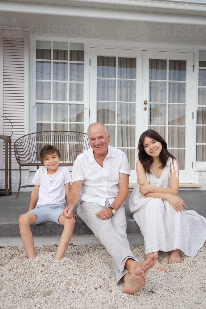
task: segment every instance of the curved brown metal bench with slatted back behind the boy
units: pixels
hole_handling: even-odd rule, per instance
[[[33,187],[34,185],[21,186],[22,166],[44,166],[40,162],[39,153],[43,146],[54,145],[59,149],[61,161],[59,166],[73,166],[76,157],[89,149],[86,133],[73,131],[44,131],[35,132],[18,138],[14,143],[14,152],[19,163],[19,188]]]

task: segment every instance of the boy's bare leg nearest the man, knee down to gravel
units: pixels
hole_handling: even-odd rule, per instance
[[[71,219],[66,219],[63,215],[61,215],[59,217],[59,223],[64,226],[64,230],[61,234],[55,260],[61,260],[65,254],[66,248],[68,247],[73,234],[75,219],[73,217]]]

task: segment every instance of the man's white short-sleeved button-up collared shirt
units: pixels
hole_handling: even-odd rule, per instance
[[[119,194],[119,173],[130,175],[128,159],[123,151],[108,146],[108,153],[101,167],[90,147],[77,156],[72,168],[72,181],[83,180],[79,199],[101,206],[108,199],[112,204]]]

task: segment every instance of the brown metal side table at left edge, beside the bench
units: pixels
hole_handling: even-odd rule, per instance
[[[11,136],[0,135],[0,139],[2,139],[5,142],[5,189],[0,189],[0,194],[5,194],[6,196],[8,196],[9,193],[11,194]],[[9,154],[8,154],[8,144],[9,144]],[[8,184],[8,169],[9,169],[9,184]]]

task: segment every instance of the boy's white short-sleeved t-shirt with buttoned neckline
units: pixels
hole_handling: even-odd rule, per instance
[[[32,184],[40,185],[37,205],[63,204],[66,206],[65,184],[72,181],[69,170],[58,166],[53,175],[47,173],[47,167],[40,167],[32,180]]]

